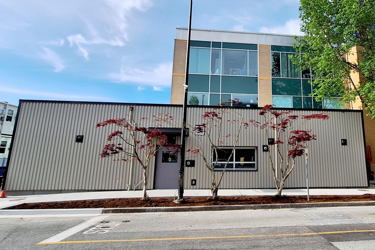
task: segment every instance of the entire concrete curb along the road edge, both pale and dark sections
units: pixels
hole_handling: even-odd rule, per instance
[[[115,214],[115,213],[155,213],[155,212],[195,212],[195,211],[227,211],[227,210],[255,210],[281,208],[317,208],[317,207],[355,207],[375,206],[375,201],[351,202],[315,202],[315,203],[285,203],[258,205],[218,205],[195,207],[141,207],[141,208],[72,208],[72,209],[19,209],[0,210],[0,215],[69,215],[69,214]]]

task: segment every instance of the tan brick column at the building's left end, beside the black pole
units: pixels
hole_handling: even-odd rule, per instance
[[[183,104],[187,40],[174,40],[171,104]]]

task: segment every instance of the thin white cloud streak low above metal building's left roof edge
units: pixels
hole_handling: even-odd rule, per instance
[[[40,96],[40,97],[48,97],[48,98],[57,98],[57,99],[62,99],[62,100],[97,100],[97,101],[110,100],[107,97],[101,97],[101,96],[61,94],[61,93],[26,90],[26,89],[19,89],[19,88],[9,88],[6,86],[1,86],[1,85],[0,85],[0,88],[1,88],[1,91],[4,93],[13,93],[13,94],[20,94],[20,95],[25,95],[25,96]],[[24,98],[24,97],[21,97],[21,98]]]

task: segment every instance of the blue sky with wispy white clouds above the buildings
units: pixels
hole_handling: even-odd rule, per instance
[[[0,0],[0,101],[169,103],[189,0]],[[301,34],[298,0],[193,0],[192,28]]]

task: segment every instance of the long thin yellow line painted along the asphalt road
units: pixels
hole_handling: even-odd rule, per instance
[[[303,233],[303,234],[261,234],[261,235],[239,235],[239,236],[212,236],[212,237],[188,237],[188,238],[155,238],[155,239],[130,239],[130,240],[93,240],[93,241],[58,241],[37,243],[37,245],[49,244],[73,244],[73,243],[100,243],[100,242],[131,242],[131,241],[175,241],[175,240],[207,240],[207,239],[236,239],[236,238],[261,238],[261,237],[283,237],[283,236],[307,236],[307,235],[322,235],[322,234],[345,234],[345,233],[360,233],[360,232],[375,232],[373,230],[352,230],[352,231],[333,231],[333,232],[318,232],[318,233]]]

